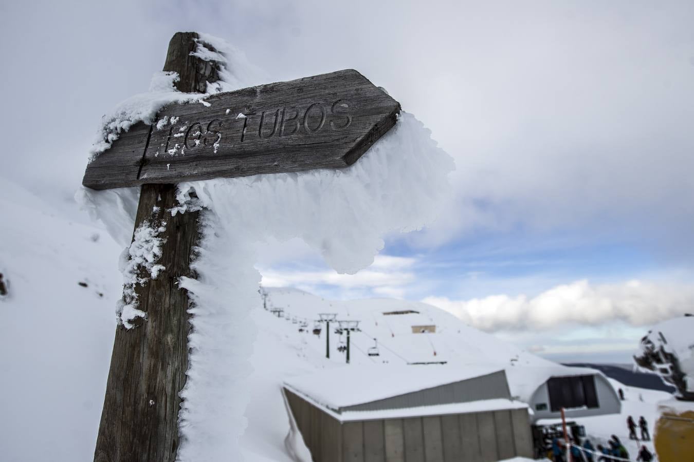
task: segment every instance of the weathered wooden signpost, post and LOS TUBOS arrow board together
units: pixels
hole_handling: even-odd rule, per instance
[[[198,40],[196,33],[176,33],[169,43],[164,71],[180,75],[179,91],[201,93],[206,82],[219,80],[219,64],[191,55]],[[165,107],[153,125],[121,133],[83,179],[94,189],[142,185],[135,229],[156,224],[164,242],[158,263],[165,269],[135,287],[146,319],[117,327],[97,462],[176,460],[191,303],[177,281],[195,277],[199,213],[167,212],[177,205],[176,183],[346,167],[400,112],[396,100],[350,69],[201,98]]]

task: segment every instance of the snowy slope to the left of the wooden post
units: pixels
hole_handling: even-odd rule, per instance
[[[2,179],[0,459],[93,459],[122,249]],[[86,287],[79,285],[86,284]]]

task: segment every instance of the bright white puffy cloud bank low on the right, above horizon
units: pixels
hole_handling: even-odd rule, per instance
[[[600,326],[609,321],[648,326],[693,312],[694,285],[636,280],[591,285],[575,281],[532,298],[501,294],[466,301],[430,296],[423,301],[487,331],[548,330],[568,323]]]

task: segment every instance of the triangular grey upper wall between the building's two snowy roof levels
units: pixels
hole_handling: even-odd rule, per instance
[[[424,370],[422,373],[426,373]],[[446,405],[452,402],[468,402],[477,400],[492,400],[496,398],[511,398],[509,384],[504,371],[497,371],[480,377],[440,385],[412,393],[405,393],[392,398],[365,402],[361,405],[346,406],[340,411],[380,411],[382,409],[402,409],[404,407],[419,407]]]

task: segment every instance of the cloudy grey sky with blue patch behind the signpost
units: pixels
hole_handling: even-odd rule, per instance
[[[556,359],[625,362],[694,311],[691,1],[2,2],[0,176],[72,197],[101,116],[146,91],[178,30],[268,79],[354,68],[455,158],[430,228],[354,276],[299,240],[266,285],[424,300]]]

